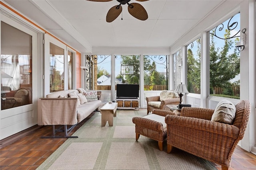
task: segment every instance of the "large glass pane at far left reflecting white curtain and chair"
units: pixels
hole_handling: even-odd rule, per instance
[[[32,104],[32,36],[1,21],[1,110]]]

